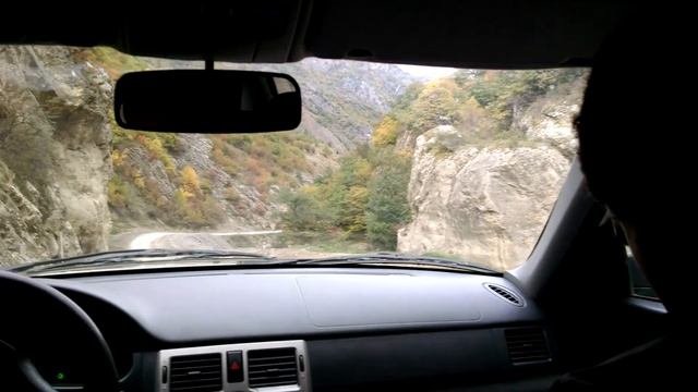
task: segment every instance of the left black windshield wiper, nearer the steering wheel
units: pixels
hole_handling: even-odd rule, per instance
[[[104,266],[110,264],[131,264],[151,261],[176,261],[191,259],[261,259],[264,261],[273,258],[264,255],[231,252],[231,250],[184,250],[184,249],[132,249],[116,250],[84,256],[75,256],[47,261],[33,262],[25,266],[10,268],[12,272],[45,272],[51,270],[72,269],[84,266]]]

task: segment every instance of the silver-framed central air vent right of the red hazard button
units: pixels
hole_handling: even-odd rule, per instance
[[[297,384],[296,348],[249,351],[248,371],[250,388]]]

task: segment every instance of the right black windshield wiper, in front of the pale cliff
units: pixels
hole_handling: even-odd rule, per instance
[[[332,266],[332,267],[351,267],[357,265],[410,265],[410,266],[426,266],[454,269],[470,273],[481,274],[501,274],[495,270],[489,268],[443,259],[438,257],[428,256],[410,256],[398,253],[381,252],[375,254],[365,255],[347,255],[326,258],[302,258],[291,260],[278,260],[272,261],[270,265],[291,265],[291,266]]]

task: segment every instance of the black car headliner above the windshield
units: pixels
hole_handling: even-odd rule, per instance
[[[250,0],[4,7],[0,42],[173,59],[305,57],[483,69],[588,66],[621,0]]]

